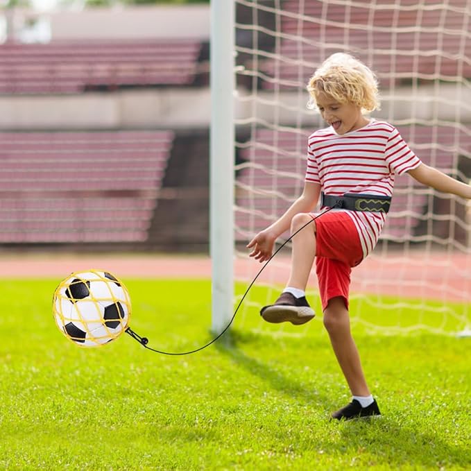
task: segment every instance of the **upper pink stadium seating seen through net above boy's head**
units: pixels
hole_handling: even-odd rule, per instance
[[[282,89],[304,86],[313,65],[339,51],[363,60],[383,85],[412,77],[471,78],[471,63],[461,60],[471,55],[471,37],[463,35],[468,31],[467,17],[459,9],[450,8],[443,15],[435,8],[418,10],[402,3],[401,9],[391,2],[375,3],[384,3],[384,8],[371,10],[368,3],[359,3],[345,9],[335,3],[305,2],[304,15],[297,17],[299,2],[284,2],[287,14],[281,18],[283,35],[275,57],[261,61],[262,88],[275,87],[274,76],[279,77],[277,86]],[[465,2],[455,3],[454,8],[463,8]]]

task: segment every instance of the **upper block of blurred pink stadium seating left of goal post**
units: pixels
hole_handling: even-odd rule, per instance
[[[191,85],[200,48],[198,40],[1,44],[0,94]]]

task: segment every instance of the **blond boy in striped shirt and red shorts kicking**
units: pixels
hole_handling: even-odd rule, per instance
[[[471,198],[471,187],[423,164],[389,123],[364,113],[379,109],[377,79],[366,65],[344,53],[330,56],[309,80],[309,108],[317,107],[328,128],[308,140],[301,196],[275,223],[248,243],[250,257],[266,262],[277,237],[291,226],[293,249],[286,288],[260,314],[267,322],[299,325],[314,317],[305,290],[314,259],[329,334],[352,393],[334,419],[379,416],[350,333],[350,273],[375,248],[393,195],[394,176],[412,178],[444,193]],[[320,199],[320,217],[311,214]],[[310,224],[309,221],[311,221]]]

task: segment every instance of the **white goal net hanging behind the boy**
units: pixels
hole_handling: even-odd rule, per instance
[[[423,162],[471,178],[471,1],[237,0],[235,238],[237,278],[261,266],[245,244],[275,221],[304,184],[307,136],[324,126],[306,107],[306,84],[334,52],[379,78],[382,110]],[[386,333],[468,332],[469,207],[461,198],[396,178],[374,252],[352,272],[352,320]],[[286,234],[288,237],[289,234]],[[273,302],[289,247],[260,276]],[[313,278],[308,287],[316,298]],[[244,310],[255,308],[252,298]],[[319,304],[316,306],[320,310]],[[252,314],[252,311],[250,311]],[[282,328],[282,327],[280,327]]]

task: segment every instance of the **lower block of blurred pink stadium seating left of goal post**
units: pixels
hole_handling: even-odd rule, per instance
[[[0,243],[139,242],[173,132],[0,132]]]

